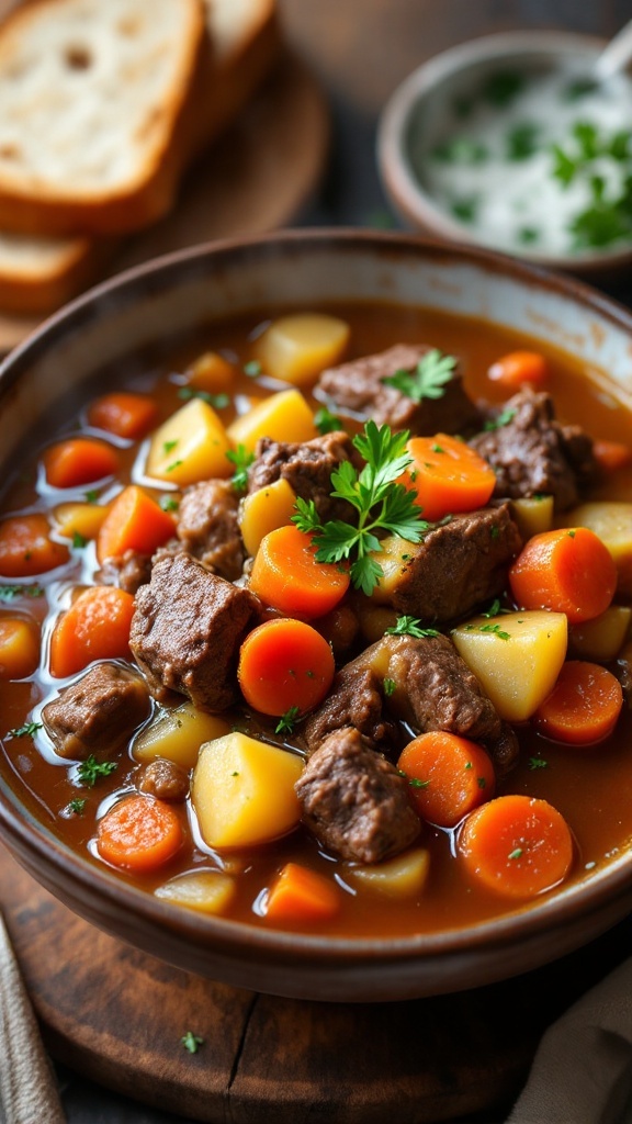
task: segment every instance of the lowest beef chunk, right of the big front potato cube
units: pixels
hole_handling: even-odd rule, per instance
[[[405,778],[356,729],[341,729],[323,742],[296,791],[304,823],[343,859],[379,862],[419,834]]]

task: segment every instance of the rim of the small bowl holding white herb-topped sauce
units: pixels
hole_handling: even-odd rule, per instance
[[[493,64],[509,55],[570,55],[578,52],[597,55],[606,40],[581,31],[508,30],[482,35],[448,47],[413,70],[390,94],[378,120],[376,160],[383,190],[400,217],[413,226],[434,232],[435,236],[466,245],[495,250],[489,241],[479,239],[476,232],[458,223],[428,194],[414,172],[408,156],[406,135],[419,101],[435,87],[477,63]],[[545,269],[578,271],[589,277],[617,269],[632,261],[632,245],[614,250],[583,251],[576,254],[539,253],[530,247],[496,250],[530,264]]]

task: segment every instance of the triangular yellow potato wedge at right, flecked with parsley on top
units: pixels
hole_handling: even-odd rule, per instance
[[[525,609],[475,617],[454,628],[452,640],[500,717],[526,722],[553,689],[568,623],[563,613]]]

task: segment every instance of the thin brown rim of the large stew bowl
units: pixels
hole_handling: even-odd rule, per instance
[[[247,259],[253,253],[269,256],[271,250],[274,253],[288,250],[291,253],[310,247],[323,251],[328,246],[353,253],[370,248],[372,245],[382,250],[390,246],[398,253],[405,251],[414,257],[425,255],[432,260],[457,259],[487,272],[513,274],[526,285],[543,287],[579,301],[587,309],[595,310],[614,326],[629,333],[632,344],[632,312],[625,306],[575,278],[557,275],[540,265],[479,246],[451,245],[404,232],[296,227],[256,237],[223,239],[180,250],[107,279],[44,321],[4,359],[0,364],[0,391],[6,383],[10,386],[19,377],[20,371],[51,344],[54,345],[66,333],[80,328],[87,315],[89,319],[92,318],[94,308],[99,307],[101,301],[115,297],[124,305],[129,303],[134,299],[137,285],[145,283],[147,279],[160,288],[161,283],[169,283],[174,272],[178,274],[188,268],[199,271],[200,265],[208,262],[220,263],[225,257],[236,256],[238,260],[241,255],[245,255]],[[322,967],[335,964],[344,968],[353,964],[361,968],[369,964],[395,966],[403,959],[433,962],[442,960],[446,954],[471,953],[482,946],[488,951],[499,950],[514,944],[516,936],[526,940],[538,935],[543,928],[547,928],[547,932],[567,930],[570,919],[597,915],[606,904],[616,906],[621,901],[621,909],[615,918],[619,919],[623,916],[623,908],[625,907],[625,912],[629,909],[632,891],[632,852],[630,852],[611,860],[602,871],[589,877],[588,886],[584,880],[574,882],[552,896],[543,896],[539,903],[518,905],[500,917],[493,917],[466,928],[454,927],[407,936],[337,937],[264,928],[222,916],[200,915],[159,900],[146,890],[126,882],[106,865],[96,867],[61,841],[25,807],[6,776],[0,776],[0,836],[8,842],[9,850],[40,885],[65,903],[72,901],[71,908],[75,913],[96,921],[101,928],[108,927],[107,917],[103,918],[102,913],[102,906],[107,904],[111,906],[112,917],[117,915],[119,919],[125,916],[134,916],[136,921],[139,918],[139,928],[146,933],[156,930],[161,933],[178,932],[179,940],[186,935],[186,939],[198,949],[208,945],[209,953],[216,950],[233,951],[235,946],[240,946],[244,951],[256,952],[268,964],[287,963],[289,955],[295,967],[300,964],[307,967],[317,962]],[[54,879],[45,873],[47,863],[54,865],[56,874]],[[58,892],[58,885],[64,886],[64,894]],[[90,905],[92,899],[96,899],[101,908],[92,908]],[[128,925],[129,931],[136,927]],[[120,936],[118,927],[115,932]],[[133,937],[129,940],[130,943],[135,943]],[[164,954],[163,959],[169,959],[169,955]]]

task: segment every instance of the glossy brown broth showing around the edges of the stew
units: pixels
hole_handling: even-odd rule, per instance
[[[364,305],[349,305],[331,309],[343,317],[351,326],[351,354],[364,355],[381,351],[396,342],[426,342],[441,351],[460,356],[466,372],[466,384],[475,398],[487,401],[502,401],[508,395],[498,390],[497,386],[486,379],[486,371],[499,355],[507,352],[533,347],[524,337],[502,332],[487,324],[457,319],[448,315],[437,315],[425,310],[407,310],[390,306],[367,308]],[[183,372],[191,361],[201,352],[215,350],[224,352],[241,371],[243,364],[251,357],[251,344],[263,318],[251,316],[238,320],[214,325],[195,339],[174,343],[172,352],[165,356],[147,353],[135,356],[130,365],[134,375],[129,379],[125,371],[103,372],[99,391],[102,387],[114,389],[126,386],[133,389],[151,390],[160,406],[160,420],[168,417],[181,405],[178,398],[178,372]],[[543,351],[538,345],[539,351]],[[630,405],[614,400],[604,392],[605,383],[589,382],[581,364],[570,361],[567,356],[547,351],[551,368],[550,389],[562,420],[572,420],[583,425],[594,437],[628,441],[630,434]],[[142,373],[139,373],[142,372]],[[247,408],[253,395],[261,395],[261,382],[238,374],[235,391],[240,409]],[[181,380],[180,380],[181,384]],[[76,409],[84,409],[85,401],[76,404]],[[614,409],[613,405],[617,408]],[[222,413],[229,422],[232,407]],[[56,439],[71,430],[84,428],[83,414],[69,417],[67,423],[60,427]],[[124,470],[121,478],[132,470],[137,448],[130,447],[123,452]],[[51,505],[51,496],[46,488],[37,491],[34,481],[37,479],[36,457],[33,453],[29,463],[25,463],[19,477],[7,488],[2,501],[2,515],[19,511],[25,508],[46,510]],[[25,475],[26,472],[26,475]],[[632,470],[617,472],[608,488],[602,488],[602,496],[619,499],[632,499]],[[54,502],[58,501],[55,493]],[[84,561],[84,558],[88,561]],[[89,583],[96,563],[90,550],[75,552],[72,565],[64,574],[63,582]],[[46,637],[49,632],[54,609],[51,609],[48,598],[54,604],[56,583],[46,575],[35,579],[45,593],[35,598],[20,598],[15,602],[0,605],[0,616],[11,616],[18,613],[35,619],[43,628]],[[47,595],[47,596],[46,596]],[[46,661],[46,643],[43,645]],[[114,801],[117,794],[134,788],[134,772],[137,769],[130,754],[121,755],[119,768],[111,778],[101,779],[93,789],[78,786],[73,777],[73,765],[62,759],[54,760],[54,754],[42,735],[35,737],[22,734],[16,736],[11,732],[31,720],[35,708],[42,704],[56,682],[51,681],[46,672],[36,673],[29,680],[10,682],[0,681],[0,736],[2,738],[3,761],[2,772],[26,807],[42,823],[54,832],[71,847],[84,854],[89,862],[100,864],[97,856],[93,837],[96,822],[102,810]],[[244,715],[240,716],[244,722]],[[251,722],[253,733],[256,733],[256,716],[245,715]],[[265,736],[271,741],[280,741],[270,728]],[[522,746],[521,763],[497,789],[502,792],[525,792],[543,797],[553,804],[567,818],[576,839],[576,860],[571,879],[586,877],[586,872],[608,861],[629,845],[632,837],[632,711],[624,710],[615,733],[605,742],[588,749],[563,747],[536,734],[530,726],[518,731]],[[530,759],[544,760],[544,768],[533,769]],[[82,815],[69,812],[73,798],[85,798],[85,809]],[[335,921],[319,926],[319,931],[344,935],[394,935],[410,933],[430,933],[440,928],[461,926],[467,922],[479,922],[485,918],[515,908],[512,901],[504,900],[468,881],[458,859],[452,853],[450,833],[430,826],[425,827],[421,842],[431,853],[431,872],[426,887],[418,899],[394,900],[377,894],[354,890],[354,883],[349,876],[349,867],[343,862],[334,863],[331,856],[319,852],[318,845],[303,830],[276,843],[251,849],[247,852],[214,855],[198,850],[191,840],[188,823],[188,809],[182,806],[180,814],[186,828],[187,843],[179,855],[168,868],[143,880],[119,872],[123,879],[128,879],[152,891],[180,871],[190,870],[197,865],[226,865],[237,871],[235,880],[237,895],[231,907],[231,916],[270,925],[260,916],[260,901],[267,887],[270,886],[278,870],[289,859],[304,862],[328,876],[335,873],[340,885],[349,890],[342,894],[342,909]],[[520,905],[517,906],[520,908]],[[286,926],[288,927],[288,926]],[[298,926],[297,926],[298,927]]]

